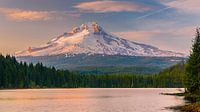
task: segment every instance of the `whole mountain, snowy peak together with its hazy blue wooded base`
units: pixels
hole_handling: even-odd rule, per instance
[[[74,27],[47,43],[16,52],[15,56],[19,61],[41,62],[82,74],[158,73],[186,57],[117,37],[96,22]]]

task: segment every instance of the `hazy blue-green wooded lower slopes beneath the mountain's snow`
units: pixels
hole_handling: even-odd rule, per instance
[[[17,57],[17,60],[28,63],[41,62],[57,69],[69,69],[82,74],[136,73],[152,74],[179,63],[181,57],[144,57],[121,55],[76,55],[66,58],[64,55]]]

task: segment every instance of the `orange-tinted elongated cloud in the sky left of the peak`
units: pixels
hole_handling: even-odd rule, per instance
[[[0,13],[12,21],[45,21],[64,16],[79,16],[79,14],[70,11],[31,11],[14,8],[0,8]]]

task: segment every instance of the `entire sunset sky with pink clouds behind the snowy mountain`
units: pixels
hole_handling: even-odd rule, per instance
[[[200,0],[0,0],[0,53],[44,44],[95,21],[121,38],[189,54]]]

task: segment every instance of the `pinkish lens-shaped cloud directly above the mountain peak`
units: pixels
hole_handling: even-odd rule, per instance
[[[74,6],[83,12],[106,13],[106,12],[143,12],[151,10],[152,7],[139,3],[125,1],[92,1],[83,2]]]

